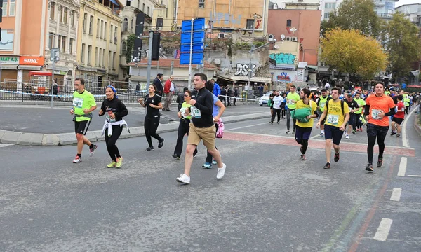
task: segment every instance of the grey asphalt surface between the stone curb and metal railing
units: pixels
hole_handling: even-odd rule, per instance
[[[100,106],[100,104],[98,104]],[[9,130],[25,133],[58,134],[74,132],[73,116],[70,115],[70,106],[19,106],[0,105],[0,130]],[[93,112],[93,120],[89,130],[102,130],[105,118],[98,116],[100,108]],[[173,106],[172,112],[162,111],[160,123],[166,124],[170,121],[178,121],[177,107]],[[128,116],[124,119],[129,127],[143,125],[146,109],[139,106],[128,106]],[[229,106],[224,116],[234,116],[248,113],[267,113],[269,108],[260,107],[258,104],[243,104]]]

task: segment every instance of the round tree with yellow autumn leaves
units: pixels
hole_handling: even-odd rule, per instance
[[[321,39],[321,61],[340,73],[372,78],[385,70],[387,55],[375,39],[358,30],[332,29]]]

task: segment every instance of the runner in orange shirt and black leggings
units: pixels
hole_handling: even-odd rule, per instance
[[[367,155],[368,164],[366,170],[373,172],[373,152],[375,139],[379,145],[379,156],[377,167],[383,165],[383,152],[385,151],[385,138],[389,131],[389,118],[395,114],[395,104],[391,97],[384,94],[385,87],[383,83],[375,85],[375,94],[371,94],[366,99],[364,116],[367,121]],[[385,113],[387,111],[387,113]]]

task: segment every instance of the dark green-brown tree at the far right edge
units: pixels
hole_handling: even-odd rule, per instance
[[[395,13],[387,24],[385,47],[389,54],[389,71],[396,79],[408,75],[413,62],[420,60],[418,29],[402,13]],[[400,82],[400,81],[399,81]]]

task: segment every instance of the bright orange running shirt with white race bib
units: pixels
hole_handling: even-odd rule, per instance
[[[378,113],[387,113],[390,109],[395,108],[395,104],[391,97],[383,94],[381,97],[375,96],[375,94],[371,94],[366,99],[366,105],[370,106],[370,115],[367,120],[367,123],[371,123],[373,125],[378,126],[389,126],[389,116],[383,116],[380,118],[377,116]]]

